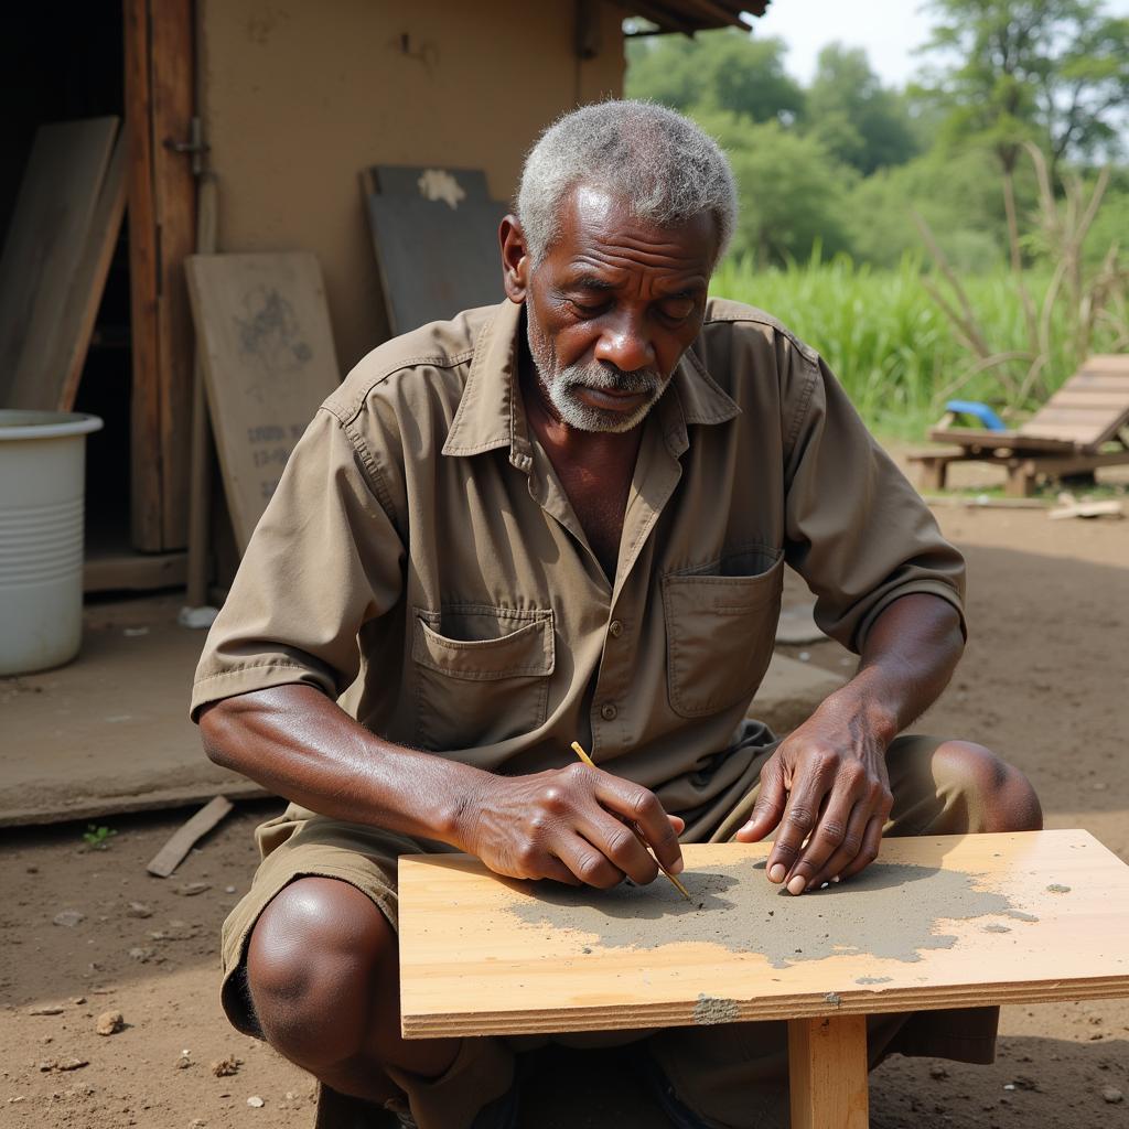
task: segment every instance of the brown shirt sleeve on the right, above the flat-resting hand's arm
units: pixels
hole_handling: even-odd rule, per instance
[[[816,623],[858,653],[891,603],[929,593],[965,631],[963,558],[826,365],[799,352],[791,360],[785,554],[816,597]]]

